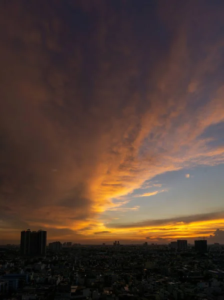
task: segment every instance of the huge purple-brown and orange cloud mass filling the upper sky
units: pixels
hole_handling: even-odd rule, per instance
[[[109,198],[148,177],[223,162],[221,147],[197,139],[224,118],[221,4],[175,4],[1,1],[0,212],[7,226],[13,214],[17,227],[53,220],[87,228],[113,207]],[[201,96],[186,96],[196,87]]]

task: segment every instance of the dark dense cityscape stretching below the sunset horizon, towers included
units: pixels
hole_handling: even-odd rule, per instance
[[[224,246],[169,244],[46,245],[44,230],[21,231],[0,249],[0,299],[222,300]]]

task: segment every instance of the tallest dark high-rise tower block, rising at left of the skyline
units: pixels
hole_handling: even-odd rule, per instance
[[[21,231],[20,252],[22,255],[38,256],[46,254],[46,231]]]

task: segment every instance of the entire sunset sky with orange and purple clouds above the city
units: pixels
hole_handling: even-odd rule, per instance
[[[0,243],[224,243],[224,2],[0,2]]]

